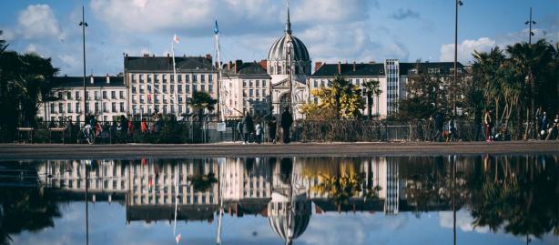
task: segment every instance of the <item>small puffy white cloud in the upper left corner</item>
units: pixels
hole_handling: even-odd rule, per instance
[[[61,39],[64,34],[49,5],[28,5],[17,17],[15,36],[25,39]]]

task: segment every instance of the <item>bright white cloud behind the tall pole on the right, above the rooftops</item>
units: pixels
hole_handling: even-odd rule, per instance
[[[495,40],[489,37],[481,37],[477,40],[463,40],[458,44],[458,60],[466,62],[472,60],[473,50],[488,51],[495,46]],[[454,44],[447,44],[441,46],[440,61],[453,61],[454,60]]]

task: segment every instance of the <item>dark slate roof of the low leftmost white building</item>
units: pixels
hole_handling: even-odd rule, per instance
[[[110,83],[107,84],[107,77],[86,77],[86,87],[125,87],[124,77],[109,77]],[[84,87],[84,77],[54,77],[54,87]]]

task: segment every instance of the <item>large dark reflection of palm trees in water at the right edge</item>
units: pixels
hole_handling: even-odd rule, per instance
[[[557,234],[557,162],[542,157],[485,157],[468,181],[474,226],[540,238]],[[552,164],[549,164],[549,162]]]

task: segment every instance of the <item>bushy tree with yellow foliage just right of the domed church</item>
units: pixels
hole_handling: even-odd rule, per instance
[[[310,91],[318,104],[304,104],[301,112],[309,119],[355,118],[361,116],[364,101],[361,89],[341,76],[334,77],[331,87]]]

